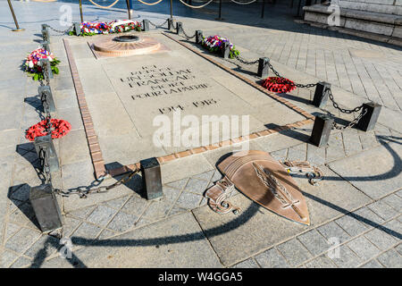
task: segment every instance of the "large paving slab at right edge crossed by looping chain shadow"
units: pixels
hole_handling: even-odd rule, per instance
[[[402,185],[397,154],[402,154],[402,145],[389,143],[331,163],[330,167],[369,197],[381,198]]]

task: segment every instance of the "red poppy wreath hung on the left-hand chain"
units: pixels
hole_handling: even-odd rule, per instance
[[[63,119],[51,119],[50,124],[54,128],[54,130],[52,130],[52,139],[62,138],[71,130],[71,124]],[[32,125],[25,131],[25,138],[29,139],[29,141],[34,141],[36,137],[46,136],[46,125],[46,119]]]

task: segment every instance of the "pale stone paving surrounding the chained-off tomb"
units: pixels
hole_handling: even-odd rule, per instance
[[[163,193],[158,201],[141,198],[140,177],[108,193],[82,199],[60,198],[63,236],[71,238],[71,258],[61,257],[58,239],[38,231],[29,205],[29,186],[41,183],[38,157],[24,130],[39,121],[38,82],[26,77],[20,65],[38,47],[40,24],[61,27],[58,8],[65,2],[13,1],[21,27],[14,33],[7,4],[2,2],[0,33],[0,265],[2,267],[401,267],[402,206],[402,54],[395,46],[367,41],[295,23],[278,7],[268,6],[260,20],[257,5],[244,9],[225,4],[226,21],[216,24],[216,5],[201,11],[180,7],[175,17],[192,34],[203,29],[230,38],[247,59],[268,56],[284,76],[297,82],[331,82],[336,100],[351,108],[374,100],[383,105],[375,130],[332,131],[328,147],[307,144],[312,126],[253,139],[251,149],[275,158],[308,160],[325,179],[318,187],[303,176],[311,225],[292,223],[236,193],[230,202],[240,214],[214,214],[203,192],[221,175],[216,160],[233,147],[163,164]],[[79,21],[77,4],[71,4]],[[167,4],[134,6],[134,17],[163,22]],[[247,9],[246,9],[247,8]],[[248,10],[249,8],[249,10]],[[84,4],[86,21],[126,18],[118,8],[100,10]],[[40,16],[38,16],[40,15]],[[201,28],[200,28],[201,27]],[[57,116],[74,122],[74,130],[54,140],[62,170],[54,184],[63,189],[94,181],[88,144],[82,135],[78,105],[61,36],[51,33],[52,49],[61,59],[61,74],[52,88]],[[66,37],[66,36],[64,36]],[[68,37],[66,37],[68,38]],[[224,61],[247,74],[251,68]],[[284,95],[291,103],[316,114],[308,105],[313,90],[297,88]],[[326,110],[343,120],[329,103]],[[339,121],[342,122],[342,121]],[[191,166],[189,168],[188,166]],[[118,179],[118,178],[115,178]],[[115,179],[103,184],[113,183]],[[63,251],[62,251],[63,252]]]

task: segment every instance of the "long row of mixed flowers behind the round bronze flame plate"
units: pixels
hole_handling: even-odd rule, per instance
[[[93,36],[96,34],[110,34],[110,33],[122,33],[130,30],[141,30],[141,23],[131,20],[114,20],[111,22],[105,21],[83,21],[80,24],[80,35]],[[75,31],[70,31],[70,35],[76,35]]]

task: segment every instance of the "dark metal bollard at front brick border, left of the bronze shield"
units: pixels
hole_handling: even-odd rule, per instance
[[[142,181],[146,198],[153,199],[163,196],[161,166],[155,157],[141,160]]]

